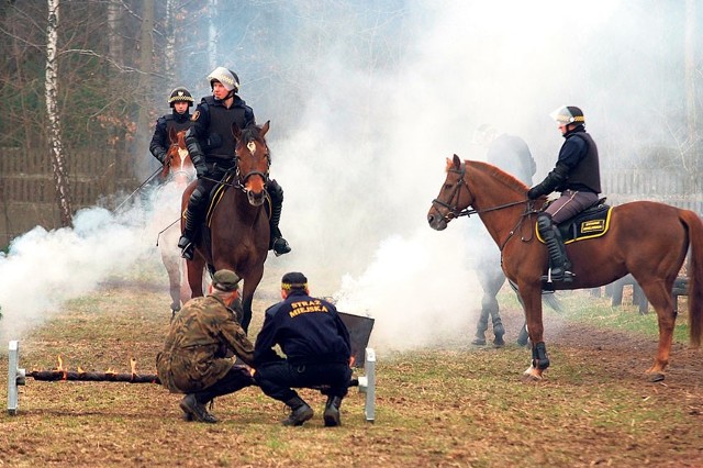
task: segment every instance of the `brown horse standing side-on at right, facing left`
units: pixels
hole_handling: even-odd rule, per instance
[[[517,179],[486,163],[461,161],[456,155],[447,159],[446,171],[427,213],[429,226],[442,231],[454,218],[475,213],[486,224],[501,249],[503,271],[517,285],[523,300],[533,355],[525,375],[542,378],[549,366],[540,300],[547,248],[535,236],[535,209],[543,207],[546,197],[529,201],[527,187]],[[657,311],[659,347],[647,374],[651,381],[662,380],[676,322],[671,289],[689,247],[690,342],[699,347],[703,335],[703,223],[693,211],[649,201],[614,207],[605,235],[567,246],[576,278],[554,287],[594,288],[631,272]]]

